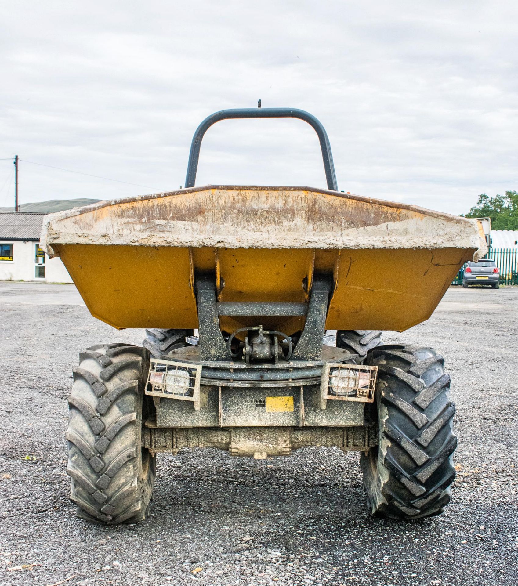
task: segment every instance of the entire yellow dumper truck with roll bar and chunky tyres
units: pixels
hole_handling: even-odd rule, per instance
[[[315,129],[327,189],[195,187],[214,122],[281,117]],[[145,519],[156,454],[184,447],[267,458],[336,446],[361,452],[373,513],[418,519],[449,502],[455,406],[442,356],[382,345],[381,331],[428,319],[462,264],[485,254],[483,232],[340,192],[311,114],[210,115],[185,189],[52,214],[42,246],[92,315],[146,329],[142,347],[100,343],[73,371],[67,472],[79,516]]]

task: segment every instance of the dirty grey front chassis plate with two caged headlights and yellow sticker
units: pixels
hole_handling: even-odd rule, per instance
[[[374,400],[377,367],[340,348],[277,364],[203,362],[195,347],[169,356],[151,360],[145,389],[159,428],[364,425]]]

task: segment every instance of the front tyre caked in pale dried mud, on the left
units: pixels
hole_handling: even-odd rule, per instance
[[[79,355],[69,396],[67,473],[77,516],[107,524],[145,519],[155,481],[155,456],[141,447],[151,410],[144,395],[149,353],[105,344]]]

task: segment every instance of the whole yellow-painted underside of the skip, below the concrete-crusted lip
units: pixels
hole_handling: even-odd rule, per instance
[[[196,328],[191,272],[216,274],[216,249],[53,244],[91,314],[115,328]],[[221,301],[305,301],[302,281],[335,274],[328,329],[403,331],[428,319],[474,248],[219,248]],[[190,260],[191,259],[191,260]],[[253,322],[253,323],[252,323]],[[304,318],[221,318],[234,331],[263,322],[288,335]]]

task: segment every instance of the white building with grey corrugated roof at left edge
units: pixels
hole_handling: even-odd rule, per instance
[[[39,247],[45,213],[0,212],[0,281],[71,283],[60,258]]]

